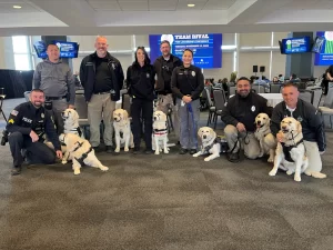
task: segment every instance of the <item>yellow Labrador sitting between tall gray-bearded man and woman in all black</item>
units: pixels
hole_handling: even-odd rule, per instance
[[[123,150],[128,152],[133,148],[133,134],[131,132],[131,123],[129,120],[129,113],[124,109],[117,109],[113,111],[113,128],[115,138],[114,152],[120,152],[120,147],[124,147]]]

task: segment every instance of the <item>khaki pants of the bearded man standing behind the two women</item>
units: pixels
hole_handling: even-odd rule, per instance
[[[180,124],[179,124],[179,109],[173,104],[172,93],[159,94],[158,110],[168,114],[168,109],[172,109],[172,123],[176,139],[179,139]]]

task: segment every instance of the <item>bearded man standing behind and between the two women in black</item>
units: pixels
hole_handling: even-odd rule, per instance
[[[157,72],[157,87],[155,90],[159,94],[158,110],[168,114],[168,109],[172,109],[173,112],[173,126],[175,136],[179,137],[179,116],[178,107],[174,104],[173,94],[171,90],[171,76],[175,67],[181,67],[182,61],[170,53],[171,46],[168,40],[163,40],[160,46],[162,56],[154,62],[154,69]]]

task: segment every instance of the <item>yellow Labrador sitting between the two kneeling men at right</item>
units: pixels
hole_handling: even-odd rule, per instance
[[[259,113],[255,117],[254,123],[256,127],[254,137],[259,140],[260,144],[259,158],[263,157],[264,154],[270,154],[268,162],[273,162],[278,142],[274,136],[271,133],[271,119],[266,113]],[[269,144],[268,141],[272,142],[272,144]]]

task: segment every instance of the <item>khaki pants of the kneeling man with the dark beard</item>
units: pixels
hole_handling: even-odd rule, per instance
[[[232,124],[228,124],[224,128],[224,134],[230,150],[233,149],[239,138],[238,129]],[[240,137],[242,138],[241,142],[244,148],[245,157],[248,157],[249,159],[256,159],[260,154],[260,144],[256,138],[254,137],[254,133],[248,132],[246,134],[246,132],[243,132],[240,133]],[[239,150],[240,150],[240,146],[238,144],[233,150],[233,152],[238,152]]]

